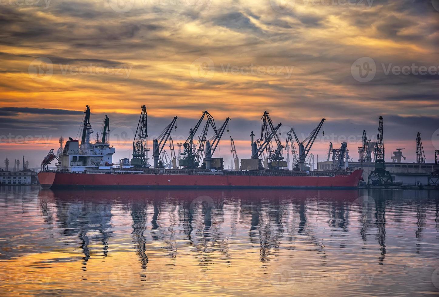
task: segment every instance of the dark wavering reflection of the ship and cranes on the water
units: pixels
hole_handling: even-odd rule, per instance
[[[164,259],[169,269],[184,261],[208,277],[221,265],[233,269],[257,253],[252,265],[268,273],[303,251],[319,259],[317,266],[331,267],[334,258],[347,265],[342,255],[353,246],[375,259],[375,272],[384,272],[389,224],[399,228],[411,222],[417,254],[427,248],[430,208],[438,230],[437,197],[405,195],[370,190],[40,190],[38,201],[41,222],[59,230],[66,246],[76,247],[84,272],[90,259],[123,246],[137,258],[133,270],[139,279],[148,281],[148,272]],[[404,208],[410,208],[413,220],[407,221]]]

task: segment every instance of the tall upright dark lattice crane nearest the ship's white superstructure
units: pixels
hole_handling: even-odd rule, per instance
[[[146,106],[142,106],[140,113],[139,123],[137,124],[136,134],[133,140],[133,158],[131,159],[131,165],[134,167],[146,167],[148,165],[147,157],[147,140],[148,140],[148,114],[146,112]]]

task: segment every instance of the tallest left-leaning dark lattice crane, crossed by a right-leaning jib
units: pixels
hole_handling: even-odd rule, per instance
[[[264,111],[261,118],[261,138],[260,140],[268,140],[266,144],[266,153],[268,159],[268,168],[270,169],[281,169],[288,167],[288,163],[284,160],[282,156],[284,146],[281,143],[280,136],[277,132],[272,133],[274,130],[274,124],[271,120],[270,113]],[[271,136],[273,135],[273,136]],[[273,143],[274,140],[274,143]]]

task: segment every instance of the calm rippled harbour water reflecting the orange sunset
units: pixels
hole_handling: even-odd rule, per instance
[[[0,187],[0,294],[437,294],[438,202],[438,191]]]

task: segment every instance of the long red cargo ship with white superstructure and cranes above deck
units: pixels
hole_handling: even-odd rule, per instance
[[[195,145],[193,138],[204,117],[208,118],[202,133],[204,136],[199,137],[198,144]],[[230,171],[223,169],[222,158],[212,157],[227,127],[229,118],[217,129],[212,116],[205,111],[195,128],[191,129],[190,136],[183,145],[184,153],[180,154],[183,157],[178,158],[179,165],[177,166],[177,157],[175,152],[173,153],[173,143],[170,137],[177,119],[174,117],[173,121],[160,134],[159,137],[162,138],[153,141],[154,168],[149,168],[148,157],[145,154],[148,152],[146,148],[146,137],[148,136],[146,118],[146,107],[143,106],[139,127],[133,142],[133,159],[131,162],[128,159],[121,160],[119,166],[114,167],[112,155],[115,153],[115,147],[111,147],[108,143],[109,119],[105,116],[102,132],[97,134],[96,140],[92,141],[90,137],[93,132],[90,125],[90,107],[87,106],[80,141],[69,138],[63,147],[63,139],[60,138],[61,146],[58,153],[55,155],[53,149],[50,150],[41,164],[42,171],[38,173],[41,186],[43,188],[353,189],[362,179],[362,170],[352,172],[346,170],[310,171],[309,168],[305,168],[305,152],[309,152],[313,139],[317,136],[324,119],[314,129],[312,137],[308,137],[308,143],[305,146],[303,143],[299,143],[300,156],[297,159],[297,168],[286,170],[288,164],[283,161],[283,146],[277,136],[277,129],[281,124],[274,127],[268,112],[265,112],[261,120],[268,121],[268,124],[264,124],[265,129],[268,129],[267,127],[272,127],[272,129],[265,133],[265,138],[261,136],[261,139],[256,141],[253,141],[254,134],[252,132],[252,158],[241,160],[241,169],[245,169]],[[213,127],[214,136],[206,139],[205,135],[207,135],[209,125]],[[291,132],[288,137],[291,137]],[[161,154],[168,139],[169,147],[172,147],[171,156],[173,156],[170,163],[173,165],[169,163],[168,169],[166,169]],[[276,139],[277,142],[276,152],[273,152],[273,145],[270,144],[272,139]],[[291,139],[289,144],[290,146],[294,145]],[[267,147],[270,149],[268,150]],[[202,159],[202,166],[198,168],[201,158],[200,152],[204,149],[205,158]],[[233,145],[232,150],[234,150]],[[264,150],[268,150],[270,154],[273,156],[276,154],[276,156],[271,157],[270,163],[266,162],[263,166],[259,157]],[[48,164],[55,159],[58,161],[57,169],[49,170]],[[267,159],[269,158],[267,157]],[[237,157],[235,160],[237,162]],[[343,161],[344,157],[340,157],[340,160]],[[184,169],[169,169],[171,166],[173,168],[183,167]]]

